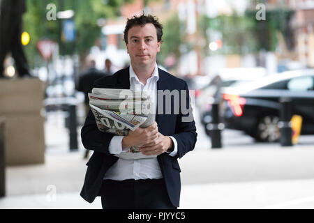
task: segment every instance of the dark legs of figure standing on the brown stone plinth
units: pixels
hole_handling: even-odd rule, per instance
[[[0,77],[3,75],[3,61],[12,53],[19,77],[31,77],[29,65],[21,42],[22,14],[26,11],[24,0],[0,1]]]

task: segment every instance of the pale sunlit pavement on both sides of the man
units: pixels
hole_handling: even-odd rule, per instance
[[[80,143],[77,152],[68,151],[68,132],[60,120],[45,125],[45,164],[6,168],[0,208],[101,208],[99,197],[94,203],[80,197],[87,169],[84,148]],[[208,145],[200,134],[195,150],[179,160],[179,208],[314,208],[313,145],[215,150]]]

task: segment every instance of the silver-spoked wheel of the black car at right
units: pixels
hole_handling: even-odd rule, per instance
[[[276,115],[269,115],[260,118],[257,123],[257,141],[278,141],[281,137],[278,122],[279,117]]]

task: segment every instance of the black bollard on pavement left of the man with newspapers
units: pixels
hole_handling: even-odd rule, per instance
[[[76,105],[69,105],[70,151],[77,151],[77,116]]]

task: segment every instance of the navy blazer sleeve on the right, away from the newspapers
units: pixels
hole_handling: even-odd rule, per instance
[[[193,151],[197,139],[188,85],[186,83],[184,90],[186,90],[186,109],[188,109],[189,112],[188,114],[182,114],[181,109],[179,109],[180,113],[177,116],[175,134],[171,135],[177,140],[178,152],[177,155],[174,156],[175,158],[181,158],[188,153],[188,151]]]

